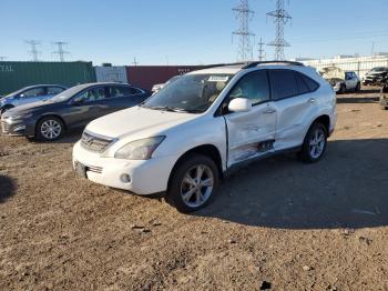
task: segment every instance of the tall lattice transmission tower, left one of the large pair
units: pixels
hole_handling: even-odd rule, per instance
[[[238,29],[232,33],[233,36],[238,36],[238,61],[247,61],[253,59],[253,47],[251,44],[251,39],[255,34],[249,31],[249,21],[254,16],[254,11],[249,8],[248,0],[239,0],[239,4],[233,8],[235,17],[238,21]]]

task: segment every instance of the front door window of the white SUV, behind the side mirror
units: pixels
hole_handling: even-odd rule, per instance
[[[269,83],[266,71],[255,71],[244,76],[229,93],[229,100],[247,98],[252,104],[269,100]]]

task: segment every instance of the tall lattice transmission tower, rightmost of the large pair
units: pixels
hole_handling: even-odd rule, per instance
[[[292,20],[292,17],[284,9],[284,0],[276,0],[276,10],[268,12],[268,17],[274,18],[276,26],[276,39],[268,43],[268,46],[275,47],[275,60],[284,60],[284,48],[290,47],[284,39],[284,26]]]

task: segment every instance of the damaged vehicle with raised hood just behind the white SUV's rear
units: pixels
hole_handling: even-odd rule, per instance
[[[356,72],[343,71],[337,67],[327,67],[323,69],[321,73],[336,93],[345,93],[347,91],[359,92],[361,90],[361,81]]]

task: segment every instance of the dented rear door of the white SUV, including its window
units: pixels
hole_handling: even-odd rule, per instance
[[[269,71],[272,97],[277,110],[275,150],[303,143],[306,127],[317,112],[319,84],[304,73],[278,69]]]

